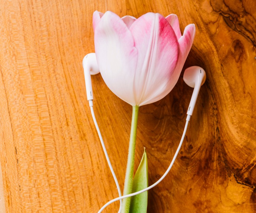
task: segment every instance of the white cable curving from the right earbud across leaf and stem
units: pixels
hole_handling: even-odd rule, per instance
[[[113,202],[115,202],[115,201],[118,201],[118,200],[121,201],[121,199],[128,198],[128,197],[131,197],[131,196],[134,196],[134,195],[141,194],[142,192],[145,192],[145,191],[147,191],[147,190],[149,190],[149,189],[155,187],[157,184],[159,184],[159,183],[166,177],[166,175],[168,174],[168,172],[170,171],[171,167],[173,166],[173,163],[174,163],[174,161],[175,161],[175,159],[176,159],[176,157],[177,157],[177,155],[178,155],[178,153],[179,153],[179,149],[181,148],[182,142],[183,142],[183,140],[184,140],[184,138],[185,138],[186,130],[187,130],[187,128],[188,128],[188,122],[189,122],[189,120],[186,120],[185,128],[184,128],[184,131],[183,131],[183,134],[182,134],[182,137],[181,137],[181,141],[179,142],[179,146],[178,146],[178,148],[177,148],[177,150],[176,150],[176,152],[175,152],[175,154],[174,154],[174,156],[173,156],[173,160],[171,161],[170,166],[168,167],[168,169],[166,170],[166,172],[163,174],[163,176],[162,176],[156,183],[154,183],[153,185],[151,185],[151,186],[149,186],[149,187],[147,187],[147,188],[145,188],[145,189],[142,189],[141,191],[134,192],[134,193],[129,194],[129,195],[120,196],[119,198],[115,198],[115,199],[113,199],[113,200],[107,202],[104,206],[102,206],[102,208],[99,210],[98,213],[101,213],[103,209],[105,209],[108,205],[110,205],[111,203],[113,203]]]

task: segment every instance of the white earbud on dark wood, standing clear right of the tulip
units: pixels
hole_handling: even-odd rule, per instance
[[[205,83],[206,73],[200,66],[191,66],[185,70],[183,80],[188,86],[195,88],[187,112],[188,117],[186,120],[189,120],[195,108],[200,87]]]

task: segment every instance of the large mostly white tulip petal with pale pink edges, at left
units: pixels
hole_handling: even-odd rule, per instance
[[[98,22],[98,17],[95,23]],[[95,26],[95,53],[104,82],[119,98],[135,105],[132,91],[138,51],[127,25],[113,12],[104,13]]]

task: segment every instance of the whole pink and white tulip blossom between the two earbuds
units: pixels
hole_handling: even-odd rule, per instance
[[[146,13],[138,19],[113,12],[93,13],[95,53],[104,82],[132,106],[165,97],[178,81],[195,37],[195,25],[183,36],[177,15]]]

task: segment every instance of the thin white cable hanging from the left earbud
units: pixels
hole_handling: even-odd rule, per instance
[[[113,178],[114,178],[114,180],[115,180],[115,185],[117,186],[118,195],[119,195],[119,197],[121,197],[121,196],[122,196],[122,194],[121,194],[121,189],[120,189],[120,186],[119,186],[117,177],[115,176],[115,172],[114,172],[114,170],[113,170],[113,167],[112,167],[112,165],[111,165],[111,163],[110,163],[109,155],[107,154],[107,150],[106,150],[106,147],[105,147],[105,144],[104,144],[102,135],[101,135],[101,133],[100,133],[100,129],[99,129],[99,126],[98,126],[98,124],[97,124],[97,120],[96,120],[96,118],[95,118],[95,114],[94,114],[94,111],[93,111],[92,100],[89,100],[89,106],[90,106],[90,110],[91,110],[91,113],[92,113],[93,122],[94,122],[94,124],[95,124],[96,129],[97,129],[97,132],[98,132],[98,135],[99,135],[99,138],[100,138],[100,142],[101,142],[101,144],[102,144],[102,148],[103,148],[104,154],[105,154],[106,159],[107,159],[107,163],[108,163],[108,165],[109,165],[109,168],[110,168],[111,173],[112,173],[112,175],[113,175]],[[118,213],[121,212],[121,207],[122,207],[122,200],[120,199],[120,207],[119,207]]]

